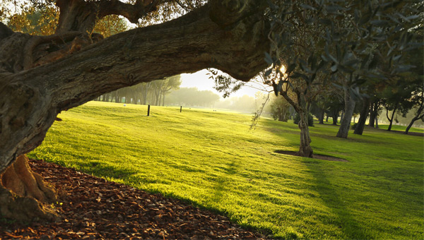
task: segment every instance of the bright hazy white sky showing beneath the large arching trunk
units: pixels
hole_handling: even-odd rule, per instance
[[[213,89],[215,82],[213,79],[209,79],[209,76],[206,75],[208,73],[207,70],[201,70],[196,73],[184,73],[181,74],[181,86],[180,88],[197,88],[199,90],[211,90],[216,94],[223,96],[223,93],[220,93]],[[230,95],[230,97],[242,97],[242,95],[249,95],[254,97],[254,94],[257,92],[257,89],[250,87],[242,87],[237,92],[234,92]]]

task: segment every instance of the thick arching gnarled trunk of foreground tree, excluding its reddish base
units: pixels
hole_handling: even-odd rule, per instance
[[[23,66],[34,65],[26,58],[33,52],[25,51],[36,49],[40,37],[0,29],[0,173],[42,143],[59,112],[99,95],[211,67],[240,80],[254,77],[269,50],[266,3],[233,1],[211,0],[175,20],[113,35],[26,71]]]

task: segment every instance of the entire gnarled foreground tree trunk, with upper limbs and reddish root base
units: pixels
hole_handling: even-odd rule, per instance
[[[180,73],[218,68],[249,80],[266,67],[269,25],[263,18],[266,3],[259,0],[211,0],[167,23],[105,40],[90,34],[96,18],[120,14],[136,21],[158,2],[136,1],[133,8],[120,1],[59,0],[57,34],[45,37],[0,23],[0,174],[4,186],[25,186],[13,191],[28,195],[0,187],[3,217],[54,219],[35,200],[48,200],[49,191],[18,156],[42,143],[61,111]]]

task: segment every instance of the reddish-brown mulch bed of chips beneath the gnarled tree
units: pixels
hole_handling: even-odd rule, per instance
[[[181,200],[30,160],[59,193],[58,222],[0,224],[0,239],[265,239]]]

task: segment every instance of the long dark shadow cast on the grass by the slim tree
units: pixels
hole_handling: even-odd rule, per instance
[[[319,164],[310,165],[307,167],[312,172],[312,176],[316,179],[315,184],[317,191],[321,196],[324,204],[331,209],[338,216],[334,224],[339,224],[338,227],[346,235],[348,239],[370,239],[372,236],[368,236],[363,229],[360,227],[358,222],[351,215],[351,212],[346,208],[346,203],[341,200],[338,196],[334,186],[331,186],[329,179],[324,174],[324,169]]]

